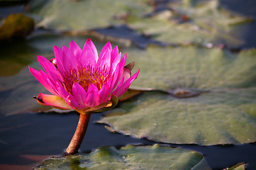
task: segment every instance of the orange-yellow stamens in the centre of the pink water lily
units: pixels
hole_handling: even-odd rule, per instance
[[[86,91],[90,84],[94,84],[99,90],[108,81],[108,72],[104,67],[81,66],[77,69],[71,68],[64,76],[65,89],[72,94],[72,85],[77,82]]]

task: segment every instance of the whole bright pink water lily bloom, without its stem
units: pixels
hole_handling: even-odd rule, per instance
[[[103,111],[102,108],[116,105],[117,98],[139,74],[138,71],[131,76],[134,63],[125,66],[126,55],[121,59],[118,47],[112,49],[110,42],[99,55],[90,39],[83,49],[71,41],[69,48],[55,46],[54,52],[52,60],[38,56],[45,72],[29,67],[35,79],[52,94],[37,96],[38,103],[45,106],[74,109],[82,114]]]

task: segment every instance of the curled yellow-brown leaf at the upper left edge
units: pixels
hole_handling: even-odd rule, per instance
[[[26,38],[34,29],[34,21],[22,13],[11,13],[0,27],[0,40]]]

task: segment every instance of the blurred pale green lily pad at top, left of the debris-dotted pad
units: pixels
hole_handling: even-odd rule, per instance
[[[38,27],[54,30],[90,30],[122,23],[118,16],[140,16],[149,12],[151,7],[145,0],[48,0],[30,1],[30,13],[41,20]]]

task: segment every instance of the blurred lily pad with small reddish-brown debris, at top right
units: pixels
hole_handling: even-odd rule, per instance
[[[252,18],[222,8],[218,0],[194,4],[175,1],[168,6],[165,11],[146,18],[128,18],[128,25],[164,42],[205,45],[221,40],[221,43],[238,47],[244,43],[240,37],[245,31],[235,30],[236,26],[252,21]]]

